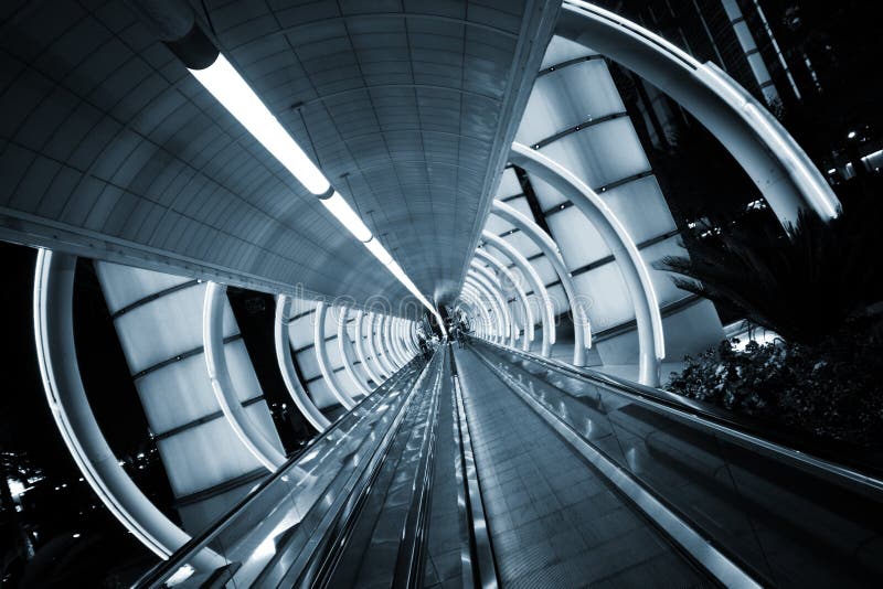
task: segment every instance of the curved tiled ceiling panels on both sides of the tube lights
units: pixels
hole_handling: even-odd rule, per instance
[[[453,299],[560,7],[204,4],[419,290]],[[2,10],[0,237],[259,290],[408,297],[125,3]]]

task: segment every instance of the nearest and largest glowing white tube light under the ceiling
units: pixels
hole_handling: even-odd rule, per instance
[[[223,53],[204,69],[190,69],[200,84],[248,129],[279,163],[313,194],[325,194],[331,184],[321,170],[288,135],[273,113],[248,86]]]

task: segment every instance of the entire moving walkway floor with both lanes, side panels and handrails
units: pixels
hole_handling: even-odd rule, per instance
[[[472,342],[415,360],[139,587],[871,587],[883,485]]]

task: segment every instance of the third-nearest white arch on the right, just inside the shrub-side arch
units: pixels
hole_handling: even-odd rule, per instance
[[[592,346],[592,326],[588,323],[588,315],[583,310],[583,306],[576,296],[573,277],[566,266],[564,266],[564,260],[561,257],[557,245],[547,233],[536,225],[536,223],[504,202],[494,200],[491,204],[491,212],[521,229],[540,247],[549,261],[552,263],[552,267],[555,268],[558,275],[561,286],[564,288],[564,293],[567,296],[567,302],[573,313],[573,363],[575,366],[584,366],[586,363],[586,347]],[[588,336],[586,336],[586,333],[588,333]]]

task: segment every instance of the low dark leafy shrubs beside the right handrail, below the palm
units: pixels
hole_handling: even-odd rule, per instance
[[[721,342],[672,374],[668,388],[812,436],[883,446],[880,333],[848,324],[816,345]]]

